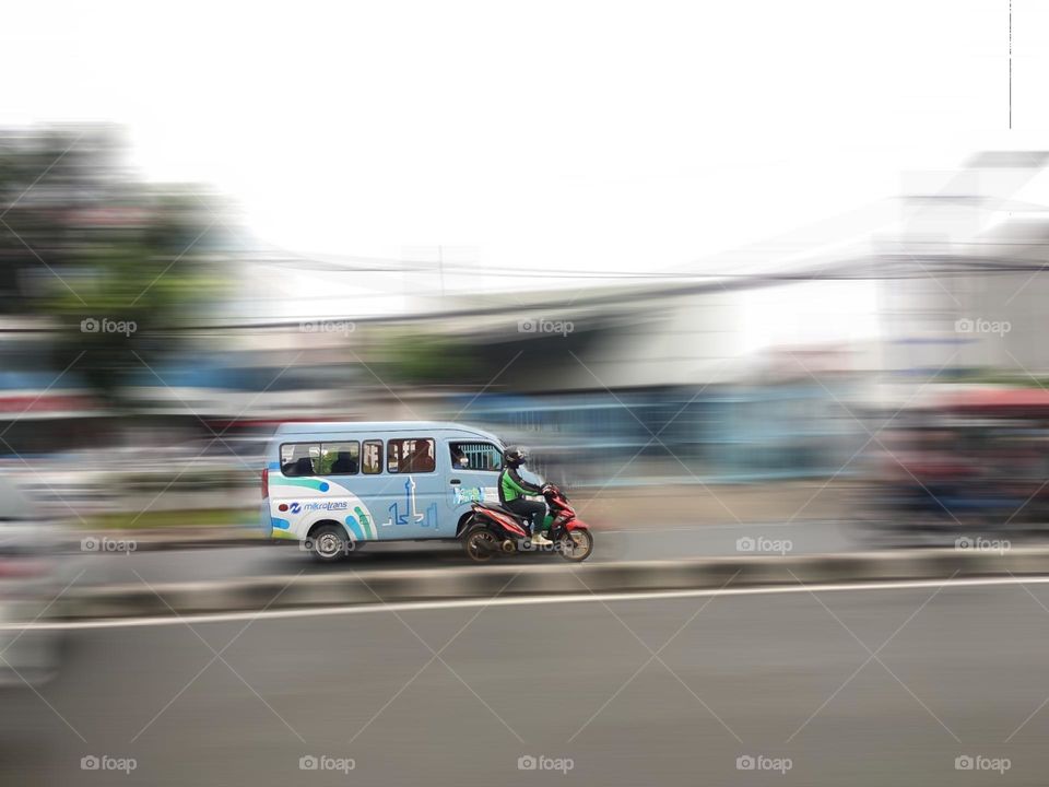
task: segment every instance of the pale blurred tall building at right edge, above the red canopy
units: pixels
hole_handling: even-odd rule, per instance
[[[983,153],[904,200],[905,226],[857,263],[884,278],[885,367],[1029,377],[1049,369],[1049,212],[1015,198],[1044,171],[1044,153]]]

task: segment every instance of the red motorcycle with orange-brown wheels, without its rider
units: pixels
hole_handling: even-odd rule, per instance
[[[558,552],[573,563],[581,563],[593,552],[590,526],[576,517],[565,493],[554,484],[543,486],[546,501],[546,521],[543,530],[553,542],[550,545],[532,543],[520,516],[492,503],[474,503],[473,516],[462,531],[462,547],[470,560],[486,563],[496,555],[517,552]]]

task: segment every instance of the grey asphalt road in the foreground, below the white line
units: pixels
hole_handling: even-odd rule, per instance
[[[1049,586],[1028,589],[81,631],[39,696],[3,695],[0,784],[1044,785]]]

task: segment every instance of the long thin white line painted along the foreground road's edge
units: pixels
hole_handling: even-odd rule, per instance
[[[248,620],[280,620],[285,618],[321,618],[327,615],[367,614],[374,612],[415,612],[422,610],[468,609],[471,607],[527,607],[552,603],[597,603],[600,601],[652,601],[660,599],[702,598],[705,596],[771,596],[841,590],[917,590],[940,587],[944,590],[1005,585],[1046,585],[1049,576],[974,577],[971,579],[914,579],[899,582],[826,583],[822,585],[774,585],[746,588],[704,588],[697,590],[651,590],[646,592],[562,594],[552,596],[521,596],[502,598],[446,599],[443,601],[390,601],[388,603],[346,604],[291,610],[245,612],[210,612],[180,616],[114,618],[85,621],[36,622],[33,624],[4,623],[5,631],[79,631],[85,629],[135,629],[144,626],[185,625],[186,623],[228,623]]]

